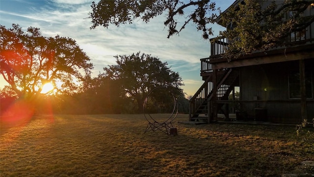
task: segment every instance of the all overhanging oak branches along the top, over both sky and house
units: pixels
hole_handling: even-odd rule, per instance
[[[314,14],[304,15],[304,10],[314,0],[273,0],[267,8],[262,8],[263,3],[267,1],[243,0],[221,15],[224,26],[233,22],[234,27],[222,31],[221,35],[240,39],[229,46],[226,57],[236,58],[252,50],[282,44],[291,32],[302,31],[314,22]],[[108,28],[110,24],[117,27],[131,24],[138,18],[148,23],[150,19],[165,14],[164,25],[168,28],[168,37],[178,34],[191,22],[197,30],[203,31],[204,39],[213,34],[210,25],[217,22],[216,12],[220,11],[211,0],[100,0],[93,2],[91,7],[91,29],[98,26]],[[288,18],[285,18],[287,15]],[[177,27],[178,16],[185,17],[180,27]]]

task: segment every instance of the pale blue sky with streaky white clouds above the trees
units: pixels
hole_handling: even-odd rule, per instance
[[[95,0],[97,1],[97,0]],[[234,0],[213,0],[224,11]],[[116,55],[146,53],[168,62],[173,71],[183,79],[183,91],[193,95],[203,84],[200,77],[200,59],[209,57],[210,45],[202,31],[189,24],[180,35],[167,38],[163,15],[144,23],[138,19],[133,24],[108,29],[92,26],[88,13],[92,0],[0,0],[0,24],[11,28],[19,24],[24,31],[30,26],[40,28],[44,36],[75,39],[80,48],[92,59],[93,76],[103,73],[103,67],[115,64]],[[178,19],[183,20],[183,19]],[[212,25],[215,37],[223,28]],[[5,81],[0,79],[0,87]]]

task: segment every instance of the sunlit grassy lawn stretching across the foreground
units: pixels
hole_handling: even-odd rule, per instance
[[[154,115],[163,117],[163,115]],[[1,122],[0,177],[280,177],[311,172],[295,127],[178,124],[145,131],[143,115],[36,116]],[[312,169],[313,170],[313,169]]]

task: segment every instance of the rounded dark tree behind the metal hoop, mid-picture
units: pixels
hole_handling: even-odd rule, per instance
[[[167,66],[167,62],[140,52],[115,58],[117,64],[105,67],[105,74],[121,83],[125,95],[137,101],[138,111],[142,110],[148,93],[156,87],[169,88],[177,95],[182,93],[182,79],[178,72]]]

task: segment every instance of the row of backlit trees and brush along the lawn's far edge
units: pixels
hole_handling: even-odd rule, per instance
[[[44,37],[33,27],[26,32],[19,25],[12,27],[0,26],[0,72],[9,84],[0,90],[1,114],[142,113],[144,100],[157,87],[167,88],[177,98],[179,111],[188,112],[179,73],[157,57],[140,52],[117,55],[115,65],[92,78],[93,64],[75,40]],[[47,83],[54,88],[43,93]],[[146,110],[172,110],[169,92],[154,91]]]

